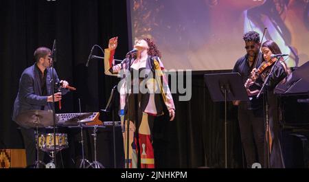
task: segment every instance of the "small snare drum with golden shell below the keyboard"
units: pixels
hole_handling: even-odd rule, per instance
[[[38,147],[44,152],[50,152],[54,150],[54,133],[41,134],[38,137]],[[56,133],[56,151],[68,148],[66,133]]]

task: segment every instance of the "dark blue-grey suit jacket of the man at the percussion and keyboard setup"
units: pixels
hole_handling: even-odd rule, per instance
[[[54,78],[56,82],[59,82],[58,75],[54,69]],[[46,76],[46,88],[47,95],[52,95],[52,68],[47,69]],[[67,89],[62,89],[62,95],[67,93]],[[47,102],[48,96],[41,96],[41,85],[38,70],[35,69],[35,65],[28,67],[21,74],[19,80],[19,92],[14,102],[14,111],[12,120],[16,122],[16,117],[19,113],[28,110],[41,110],[41,106],[45,106],[45,110],[52,109],[52,103]],[[19,123],[17,123],[19,124]],[[20,125],[20,124],[19,124]]]

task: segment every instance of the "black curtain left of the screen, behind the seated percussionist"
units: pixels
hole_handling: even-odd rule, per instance
[[[58,76],[77,91],[62,100],[61,113],[99,111],[106,104],[117,78],[104,76],[102,60],[85,63],[94,44],[106,47],[108,39],[119,36],[117,57],[128,50],[126,1],[1,1],[1,148],[23,148],[21,135],[12,122],[12,108],[19,89],[19,78],[34,64],[37,47],[52,48],[57,41]],[[94,54],[103,56],[95,49]]]

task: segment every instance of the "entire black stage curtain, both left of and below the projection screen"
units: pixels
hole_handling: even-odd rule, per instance
[[[55,68],[60,79],[67,80],[76,91],[62,99],[58,113],[78,113],[104,109],[109,93],[119,81],[104,75],[102,60],[91,60],[85,67],[90,49],[98,44],[107,47],[108,39],[119,37],[115,58],[124,58],[128,47],[126,1],[98,0],[7,0],[0,1],[0,148],[23,148],[18,126],[12,122],[12,106],[19,89],[19,78],[26,67],[34,64],[37,47],[57,45]],[[95,55],[103,56],[99,49]],[[168,61],[164,60],[163,62]],[[206,60],[205,60],[206,61]],[[211,101],[203,74],[192,79],[192,100],[179,102],[174,94],[176,119],[158,117],[154,128],[157,168],[224,167],[224,106]],[[236,108],[229,103],[229,167],[242,167],[242,146],[236,120]],[[165,112],[167,113],[167,112]],[[111,120],[111,116],[109,116]],[[117,117],[119,120],[119,117]],[[68,129],[68,132],[71,132]],[[85,130],[87,158],[93,159],[91,129]],[[78,130],[73,131],[78,136]],[[111,128],[102,129],[98,139],[98,159],[113,167]],[[74,143],[78,139],[69,139]],[[117,167],[123,167],[123,147],[117,128]],[[80,146],[69,144],[65,167],[76,165]]]

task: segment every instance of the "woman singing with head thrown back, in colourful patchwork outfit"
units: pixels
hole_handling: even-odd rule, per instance
[[[104,68],[107,75],[119,76],[120,111],[124,150],[129,168],[155,168],[152,147],[152,127],[155,117],[163,115],[166,106],[170,120],[174,120],[175,106],[163,73],[159,57],[161,53],[149,38],[135,42],[135,52],[114,65],[113,56],[117,37],[111,38],[105,49]],[[129,126],[129,150],[127,159],[127,120]]]

